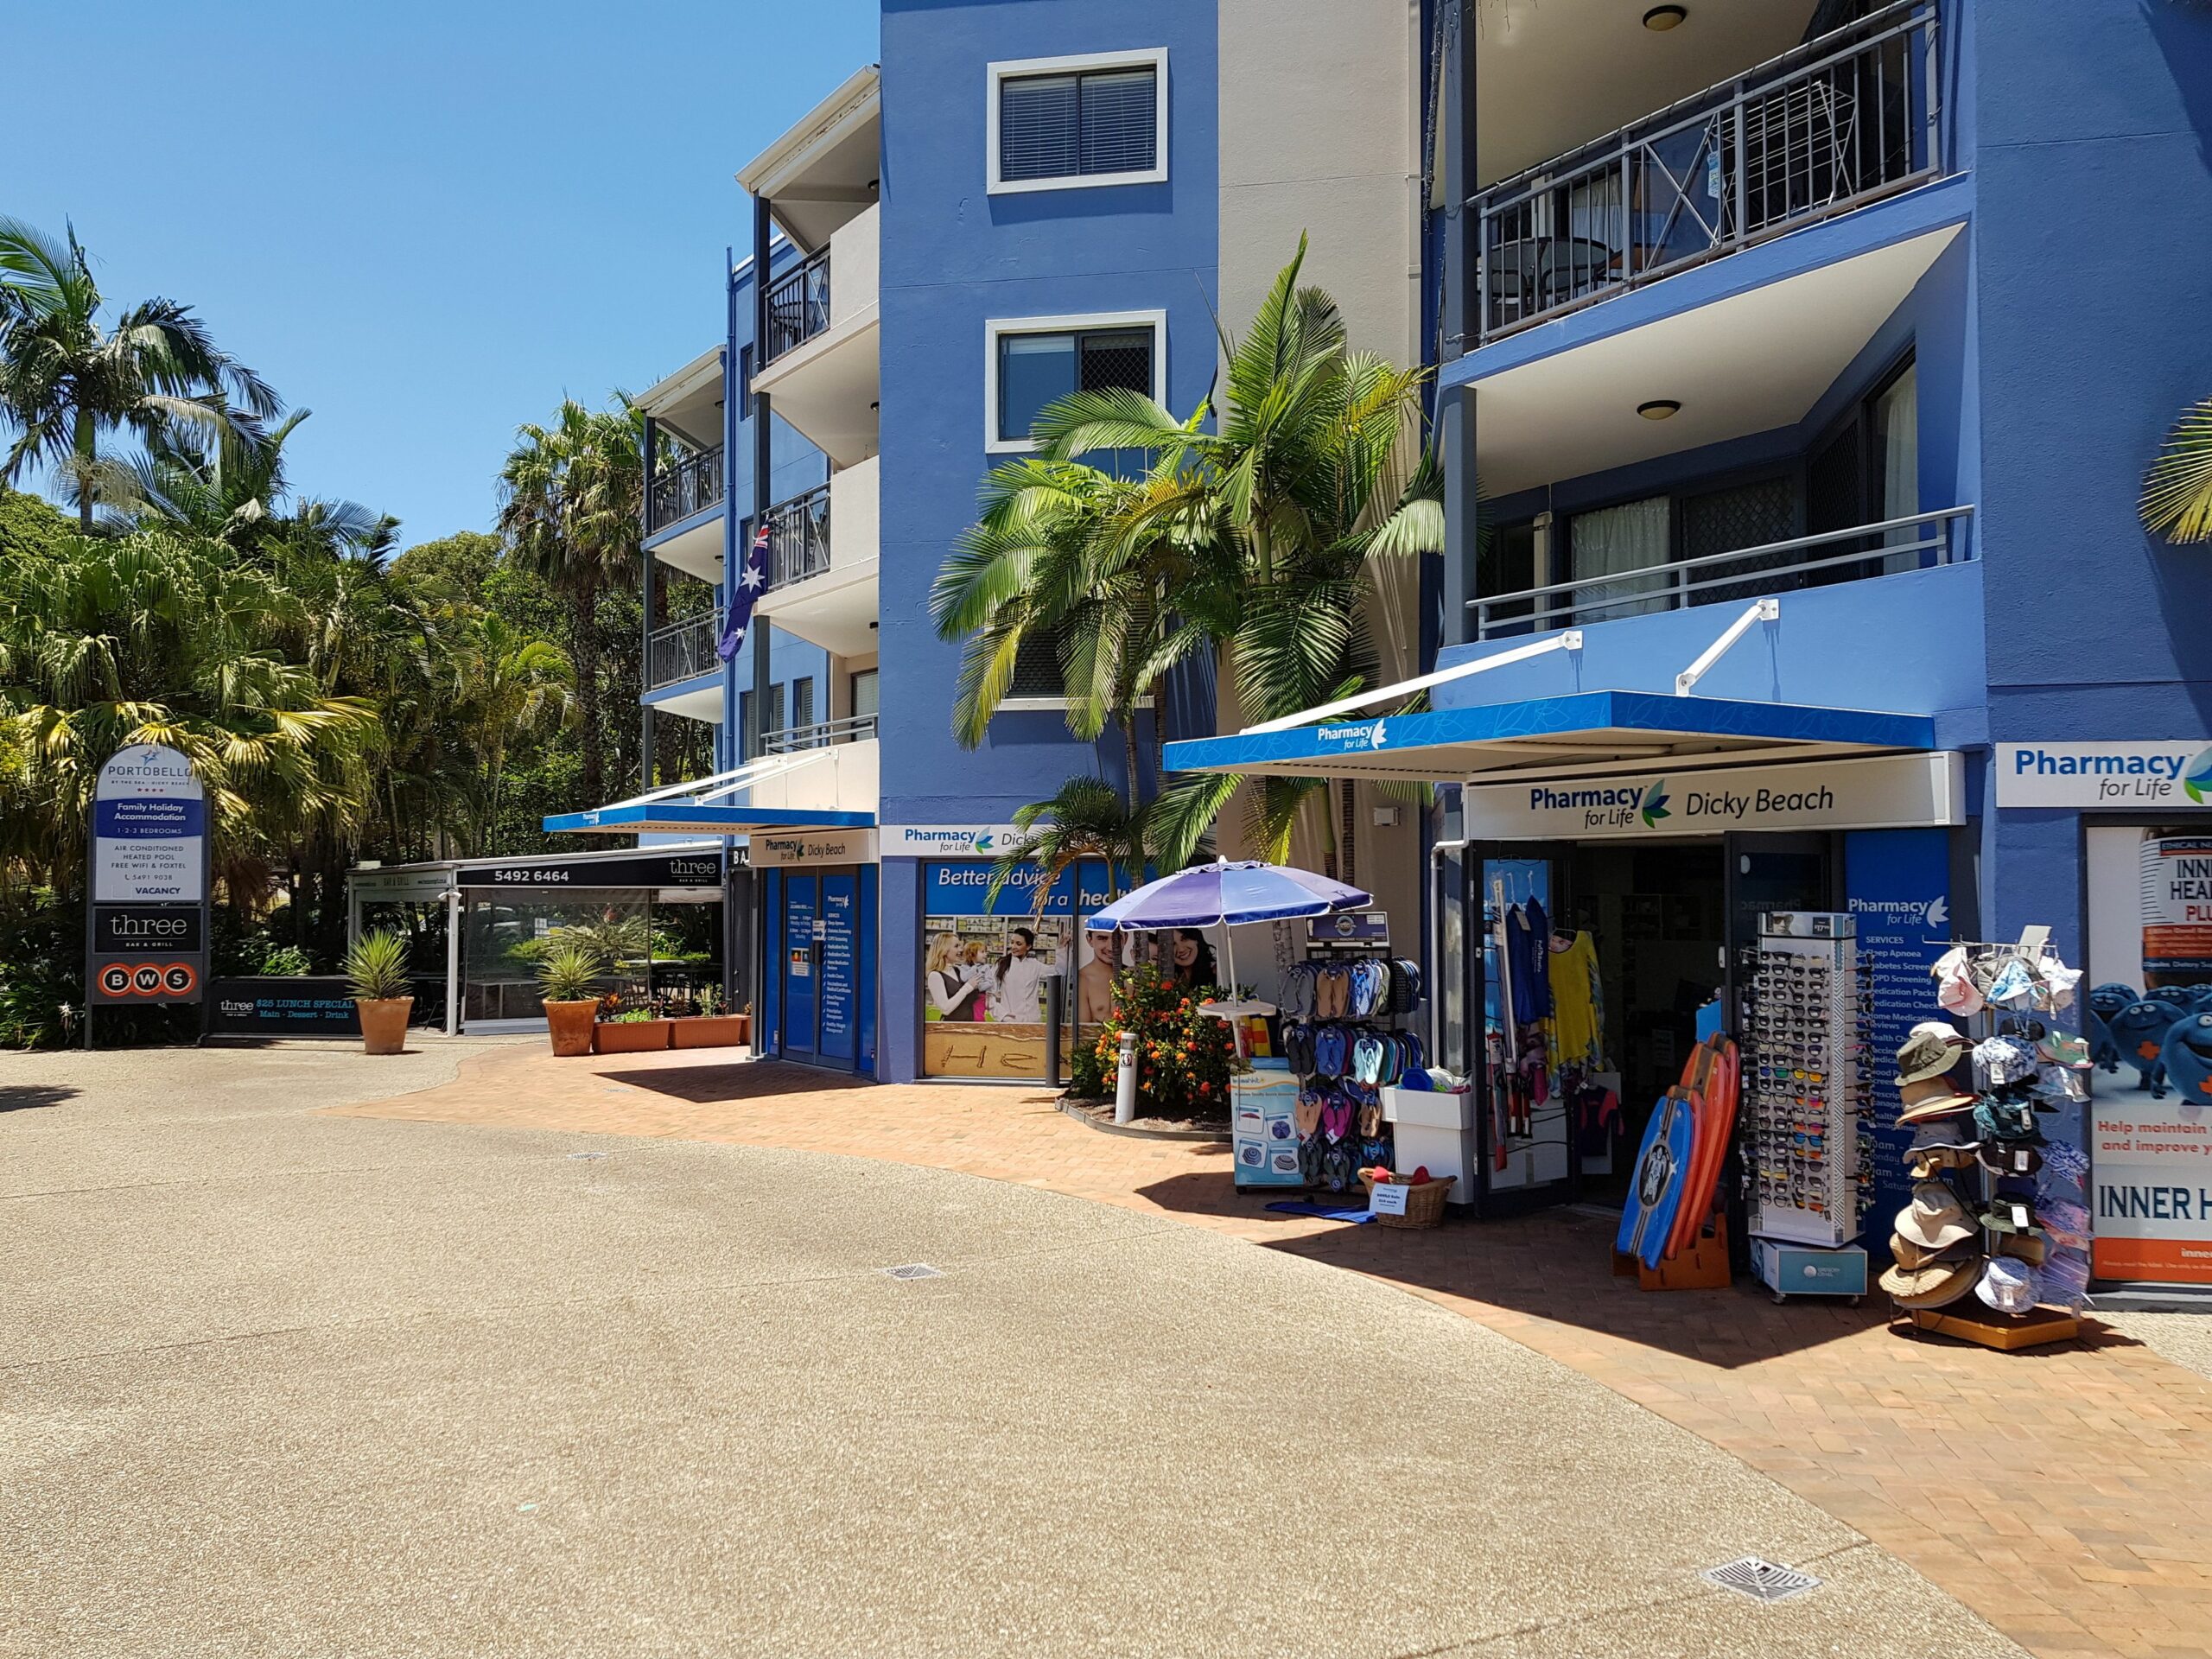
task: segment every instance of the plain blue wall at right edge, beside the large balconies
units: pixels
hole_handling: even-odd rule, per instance
[[[1989,723],[2212,732],[2212,557],[2143,535],[2143,465],[2212,396],[2212,13],[1978,0]],[[1997,812],[1997,936],[2081,947],[2079,821]]]

